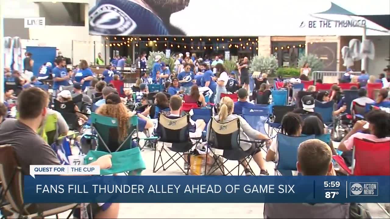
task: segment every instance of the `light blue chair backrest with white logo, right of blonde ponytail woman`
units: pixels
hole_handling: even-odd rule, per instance
[[[253,129],[266,134],[264,124],[269,117],[268,106],[245,106],[242,117]]]

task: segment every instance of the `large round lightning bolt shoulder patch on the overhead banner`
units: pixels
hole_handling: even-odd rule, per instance
[[[115,5],[99,5],[89,14],[89,31],[92,34],[127,35],[135,28],[135,21]]]

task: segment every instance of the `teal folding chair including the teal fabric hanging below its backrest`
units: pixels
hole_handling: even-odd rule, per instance
[[[126,175],[140,175],[145,170],[145,163],[138,147],[138,118],[129,118],[128,136],[124,141],[119,141],[118,121],[116,118],[91,114],[92,128],[97,134],[96,150],[91,150],[85,156],[85,164],[97,160],[97,158],[111,154],[112,167],[100,170],[101,175],[113,173],[125,173]]]

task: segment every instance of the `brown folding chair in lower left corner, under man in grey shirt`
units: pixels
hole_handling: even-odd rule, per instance
[[[39,204],[27,204],[23,201],[23,177],[22,169],[16,158],[14,148],[11,145],[0,146],[0,181],[2,185],[1,201],[7,201],[9,205],[1,207],[5,217],[16,218],[44,218],[71,210],[69,218],[77,203],[53,204],[52,209],[42,209]],[[58,217],[57,217],[58,218]]]

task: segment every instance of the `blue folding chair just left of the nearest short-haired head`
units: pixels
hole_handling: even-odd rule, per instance
[[[278,133],[278,161],[275,166],[275,175],[293,175],[292,171],[297,170],[296,162],[298,159],[297,157],[299,145],[303,141],[314,138],[314,135],[293,137]]]

